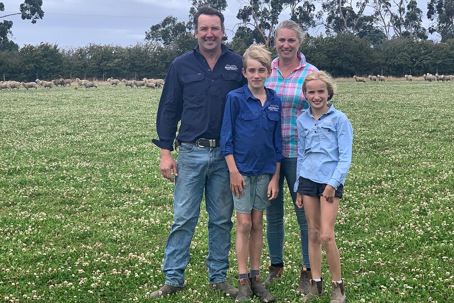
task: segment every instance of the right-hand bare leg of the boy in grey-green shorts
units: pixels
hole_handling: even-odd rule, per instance
[[[263,212],[252,209],[251,219],[251,237],[249,238],[251,269],[259,270],[263,247]]]

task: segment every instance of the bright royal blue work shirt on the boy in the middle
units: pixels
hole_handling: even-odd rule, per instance
[[[247,84],[227,94],[221,129],[221,151],[233,154],[240,174],[274,174],[282,159],[281,99],[266,89],[266,102]]]

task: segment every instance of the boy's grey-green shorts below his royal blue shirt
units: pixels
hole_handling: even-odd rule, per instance
[[[268,185],[270,184],[272,174],[259,174],[257,176],[242,175],[246,181],[246,187],[243,189],[243,196],[237,198],[233,193],[233,206],[237,213],[251,214],[252,209],[259,212],[264,211],[271,205],[268,200]]]

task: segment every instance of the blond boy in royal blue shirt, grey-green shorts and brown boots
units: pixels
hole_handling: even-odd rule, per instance
[[[247,84],[227,94],[221,128],[221,151],[237,211],[237,301],[249,300],[254,294],[261,301],[273,302],[259,273],[263,211],[277,197],[282,159],[281,100],[265,87],[271,74],[271,53],[263,45],[251,45],[243,55],[242,73]]]

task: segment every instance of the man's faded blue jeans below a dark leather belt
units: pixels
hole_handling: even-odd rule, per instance
[[[230,175],[220,147],[183,143],[177,162],[178,177],[173,194],[173,221],[164,251],[166,284],[184,286],[192,236],[203,192],[208,212],[208,276],[210,284],[227,281],[233,198]]]

